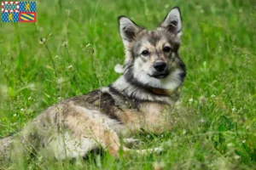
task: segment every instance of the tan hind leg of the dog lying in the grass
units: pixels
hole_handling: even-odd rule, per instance
[[[100,111],[90,111],[80,106],[74,106],[73,114],[67,116],[64,121],[65,127],[73,132],[73,135],[78,138],[94,139],[96,143],[109,151],[112,156],[119,157],[119,149],[121,148],[119,136],[108,126],[108,118],[103,116]],[[128,139],[128,141],[132,141]],[[135,139],[133,139],[135,141]],[[160,152],[160,148],[148,150],[131,150],[122,147],[125,152],[135,151],[140,154]]]

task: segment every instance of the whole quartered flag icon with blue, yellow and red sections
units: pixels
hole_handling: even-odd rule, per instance
[[[2,2],[2,22],[36,22],[36,2]]]

